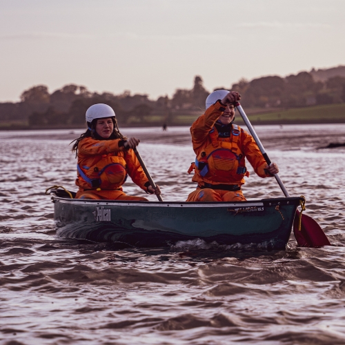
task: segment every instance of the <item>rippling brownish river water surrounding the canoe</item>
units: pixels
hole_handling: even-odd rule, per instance
[[[75,190],[68,144],[81,130],[0,132],[1,344],[344,344],[345,147],[321,147],[344,143],[345,125],[255,129],[332,246],[298,248],[291,235],[273,252],[201,240],[117,250],[57,238],[44,191]],[[141,139],[164,201],[184,201],[195,188],[189,129],[122,132]],[[247,199],[282,195],[250,172]]]

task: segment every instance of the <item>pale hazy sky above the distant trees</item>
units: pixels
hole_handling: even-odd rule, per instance
[[[345,65],[345,0],[0,0],[0,102],[75,83],[150,99]]]

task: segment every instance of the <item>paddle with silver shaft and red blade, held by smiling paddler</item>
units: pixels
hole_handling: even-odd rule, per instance
[[[257,143],[257,146],[262,152],[262,155],[264,156],[266,163],[268,164],[268,166],[270,166],[272,162],[268,158],[268,155],[264,149],[264,146],[262,146],[262,143],[259,137],[257,137],[257,134],[253,126],[250,124],[250,121],[246,113],[244,112],[241,104],[239,102],[236,102],[235,107],[239,111],[239,114],[241,115],[246,126],[248,127],[250,134],[252,135],[255,142]],[[279,175],[275,174],[274,177],[277,180],[284,195],[286,197],[290,197]],[[301,219],[301,228],[299,229],[299,210],[296,210],[295,219],[293,221],[293,233],[295,234],[297,244],[301,247],[331,246],[322,228],[320,228],[319,224],[317,224],[317,222],[311,217],[308,217],[307,215],[303,214],[302,219]]]

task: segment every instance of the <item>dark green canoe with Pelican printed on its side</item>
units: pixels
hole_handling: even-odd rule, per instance
[[[160,247],[203,239],[285,249],[300,197],[238,202],[70,199],[52,190],[57,236],[124,246]],[[72,193],[75,195],[75,193]]]

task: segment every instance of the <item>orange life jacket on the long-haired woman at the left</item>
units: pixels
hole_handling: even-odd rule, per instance
[[[127,179],[126,161],[123,153],[108,153],[92,166],[79,166],[81,177],[90,188],[115,189],[121,187]]]

